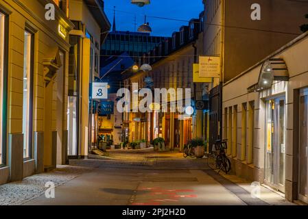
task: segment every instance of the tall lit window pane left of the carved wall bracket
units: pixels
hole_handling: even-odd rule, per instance
[[[32,158],[34,35],[25,31],[23,55],[23,158]]]

